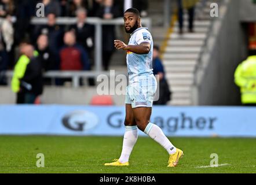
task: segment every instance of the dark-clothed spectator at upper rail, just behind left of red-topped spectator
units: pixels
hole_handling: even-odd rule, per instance
[[[35,30],[34,43],[39,35],[44,34],[48,36],[49,49],[53,52],[55,60],[58,61],[58,53],[60,47],[63,46],[63,28],[56,24],[56,15],[50,13],[47,15],[47,25],[40,25]]]

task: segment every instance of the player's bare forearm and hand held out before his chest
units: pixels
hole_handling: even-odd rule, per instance
[[[148,42],[142,42],[140,45],[126,45],[121,40],[114,40],[115,48],[120,50],[129,50],[136,54],[148,54],[151,45]]]

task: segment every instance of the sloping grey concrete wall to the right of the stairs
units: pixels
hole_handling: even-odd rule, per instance
[[[234,83],[237,65],[247,57],[246,29],[240,23],[240,0],[229,0],[220,9],[207,40],[209,51],[202,56],[193,88],[195,105],[239,105],[240,92]]]

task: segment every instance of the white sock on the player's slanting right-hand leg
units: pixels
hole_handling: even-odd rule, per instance
[[[145,129],[145,134],[149,135],[153,140],[158,142],[160,145],[167,150],[169,154],[174,154],[176,148],[171,144],[170,140],[163,134],[163,131],[158,125],[149,123]]]

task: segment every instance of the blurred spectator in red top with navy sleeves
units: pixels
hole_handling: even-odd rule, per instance
[[[60,51],[60,69],[62,71],[89,70],[89,58],[85,49],[76,44],[75,33],[68,31],[64,35],[65,47]]]

